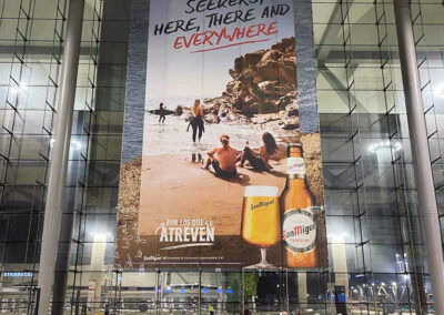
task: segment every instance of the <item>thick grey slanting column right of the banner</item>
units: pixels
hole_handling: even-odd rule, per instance
[[[408,0],[394,0],[401,70],[415,172],[417,204],[423,230],[436,314],[444,314],[444,267],[440,221],[428,153],[424,105],[416,63]]]

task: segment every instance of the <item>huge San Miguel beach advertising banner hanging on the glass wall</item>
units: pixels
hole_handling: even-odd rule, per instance
[[[147,48],[129,57],[115,265],[326,267],[312,33],[295,24],[310,7],[151,0],[147,13]]]

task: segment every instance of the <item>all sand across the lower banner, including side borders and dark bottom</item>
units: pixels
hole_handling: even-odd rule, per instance
[[[316,204],[322,205],[320,135],[319,133],[303,135],[301,143],[304,149],[307,183],[316,197]],[[208,266],[212,264],[221,266],[221,263],[229,263],[228,267],[236,267],[259,262],[258,247],[242,241],[240,236],[244,185],[274,184],[282,192],[285,184],[285,159],[279,163],[271,162],[275,175],[258,173],[244,167],[238,169],[240,179],[230,182],[216,179],[212,173],[201,170],[199,163],[185,161],[190,156],[189,154],[151,155],[143,158],[143,165],[142,159],[135,159],[122,165],[114,253],[117,267],[131,270],[137,270],[139,266],[180,267],[184,260],[190,263],[186,265],[189,267],[201,267],[203,263]],[[215,193],[218,191],[222,194]],[[141,192],[142,197],[140,197]],[[202,204],[204,197],[209,196],[208,204]],[[160,243],[159,235],[153,235],[153,231],[160,222],[173,217],[213,220],[221,226],[215,231],[218,237],[214,244],[209,247],[188,247],[171,252],[161,250],[174,243]],[[327,267],[327,242],[323,213],[317,216],[316,223],[320,266]],[[282,254],[281,244],[276,244],[269,251],[269,261],[284,267]],[[155,260],[152,261],[152,258]],[[230,263],[233,264],[230,265]]]

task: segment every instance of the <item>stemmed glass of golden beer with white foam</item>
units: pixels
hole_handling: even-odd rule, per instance
[[[266,261],[266,251],[281,241],[279,187],[245,187],[241,236],[245,242],[261,250],[261,262],[248,268],[275,268]]]

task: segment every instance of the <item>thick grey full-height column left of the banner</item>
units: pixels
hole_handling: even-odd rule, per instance
[[[83,8],[84,0],[70,0],[40,254],[38,283],[38,287],[40,288],[38,314],[40,315],[48,313],[54,278],[56,255],[62,217],[61,199],[67,183]]]

